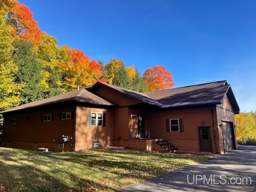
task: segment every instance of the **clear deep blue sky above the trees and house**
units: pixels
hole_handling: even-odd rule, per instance
[[[175,87],[231,84],[241,111],[256,110],[255,0],[19,0],[58,45],[94,60],[164,65]]]

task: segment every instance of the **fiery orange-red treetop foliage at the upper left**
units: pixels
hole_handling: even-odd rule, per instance
[[[14,36],[20,37],[24,41],[31,42],[34,46],[40,43],[41,30],[38,27],[38,22],[33,19],[33,12],[30,11],[28,6],[14,1],[15,5],[10,19],[12,21]]]

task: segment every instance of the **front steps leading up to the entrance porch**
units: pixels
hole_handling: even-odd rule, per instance
[[[156,139],[153,141],[154,151],[159,152],[176,152],[178,148],[175,148],[174,145],[170,144],[166,139]]]

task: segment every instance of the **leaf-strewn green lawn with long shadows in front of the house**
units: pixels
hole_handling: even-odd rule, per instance
[[[0,192],[114,191],[208,158],[130,149],[57,153],[0,148]]]

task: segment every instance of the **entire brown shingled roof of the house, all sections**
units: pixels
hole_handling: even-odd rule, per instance
[[[202,104],[222,104],[224,96],[227,95],[234,112],[239,113],[240,109],[234,97],[234,93],[227,83],[227,81],[217,81],[205,84],[198,84],[193,86],[186,86],[181,88],[172,88],[168,90],[160,90],[156,92],[150,92],[147,94],[132,91],[129,89],[121,88],[118,86],[97,82],[93,86],[81,88],[80,90],[74,90],[53,96],[47,99],[30,102],[10,110],[2,111],[0,113],[7,113],[16,110],[24,110],[27,108],[34,108],[39,106],[45,106],[49,104],[55,104],[65,101],[76,101],[87,104],[102,105],[102,106],[114,106],[113,103],[96,96],[92,92],[99,86],[108,87],[120,94],[127,97],[134,98],[141,103],[154,105],[160,108],[170,108],[178,106],[192,106]],[[88,91],[89,90],[89,91]],[[92,92],[90,92],[92,91]]]

